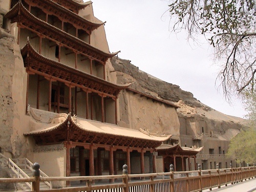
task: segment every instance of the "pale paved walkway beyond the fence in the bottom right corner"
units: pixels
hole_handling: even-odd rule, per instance
[[[210,191],[209,189],[203,190],[204,192]],[[243,182],[238,182],[236,184],[228,184],[228,186],[221,186],[221,188],[214,187],[212,188],[211,191],[214,192],[227,192],[227,191],[232,191],[232,192],[252,192],[256,191],[256,178],[253,179],[247,179],[246,181]]]

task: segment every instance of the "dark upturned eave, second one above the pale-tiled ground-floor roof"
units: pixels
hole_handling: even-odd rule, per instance
[[[11,19],[11,22],[17,22],[19,27],[23,27],[44,36],[57,44],[61,44],[71,50],[77,51],[82,55],[86,55],[93,60],[97,60],[104,64],[106,60],[115,56],[116,53],[105,53],[87,42],[76,38],[65,31],[62,31],[47,22],[32,15],[22,4],[18,2],[6,15],[6,18]]]

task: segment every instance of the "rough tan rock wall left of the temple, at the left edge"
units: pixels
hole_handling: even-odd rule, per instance
[[[0,146],[10,158],[24,157],[30,150],[26,130],[26,71],[15,39],[0,30]],[[22,123],[23,122],[23,123]]]

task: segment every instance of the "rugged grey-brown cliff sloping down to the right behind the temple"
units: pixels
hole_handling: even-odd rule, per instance
[[[132,82],[130,88],[175,102],[180,106],[177,109],[180,135],[194,136],[202,132],[216,133],[222,135],[221,139],[230,140],[235,135],[230,130],[240,130],[244,123],[242,118],[225,115],[201,103],[193,97],[192,93],[181,90],[179,86],[140,71],[138,67],[132,65],[130,60],[113,57],[111,63],[117,73],[117,83]],[[164,114],[162,115],[164,116]],[[204,127],[204,131],[202,127]],[[237,133],[237,131],[235,132]]]

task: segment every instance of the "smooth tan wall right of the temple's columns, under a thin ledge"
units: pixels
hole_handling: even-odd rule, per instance
[[[141,128],[159,135],[179,135],[179,119],[176,109],[160,102],[141,97],[131,91],[119,95],[120,119],[119,125],[132,129]]]

